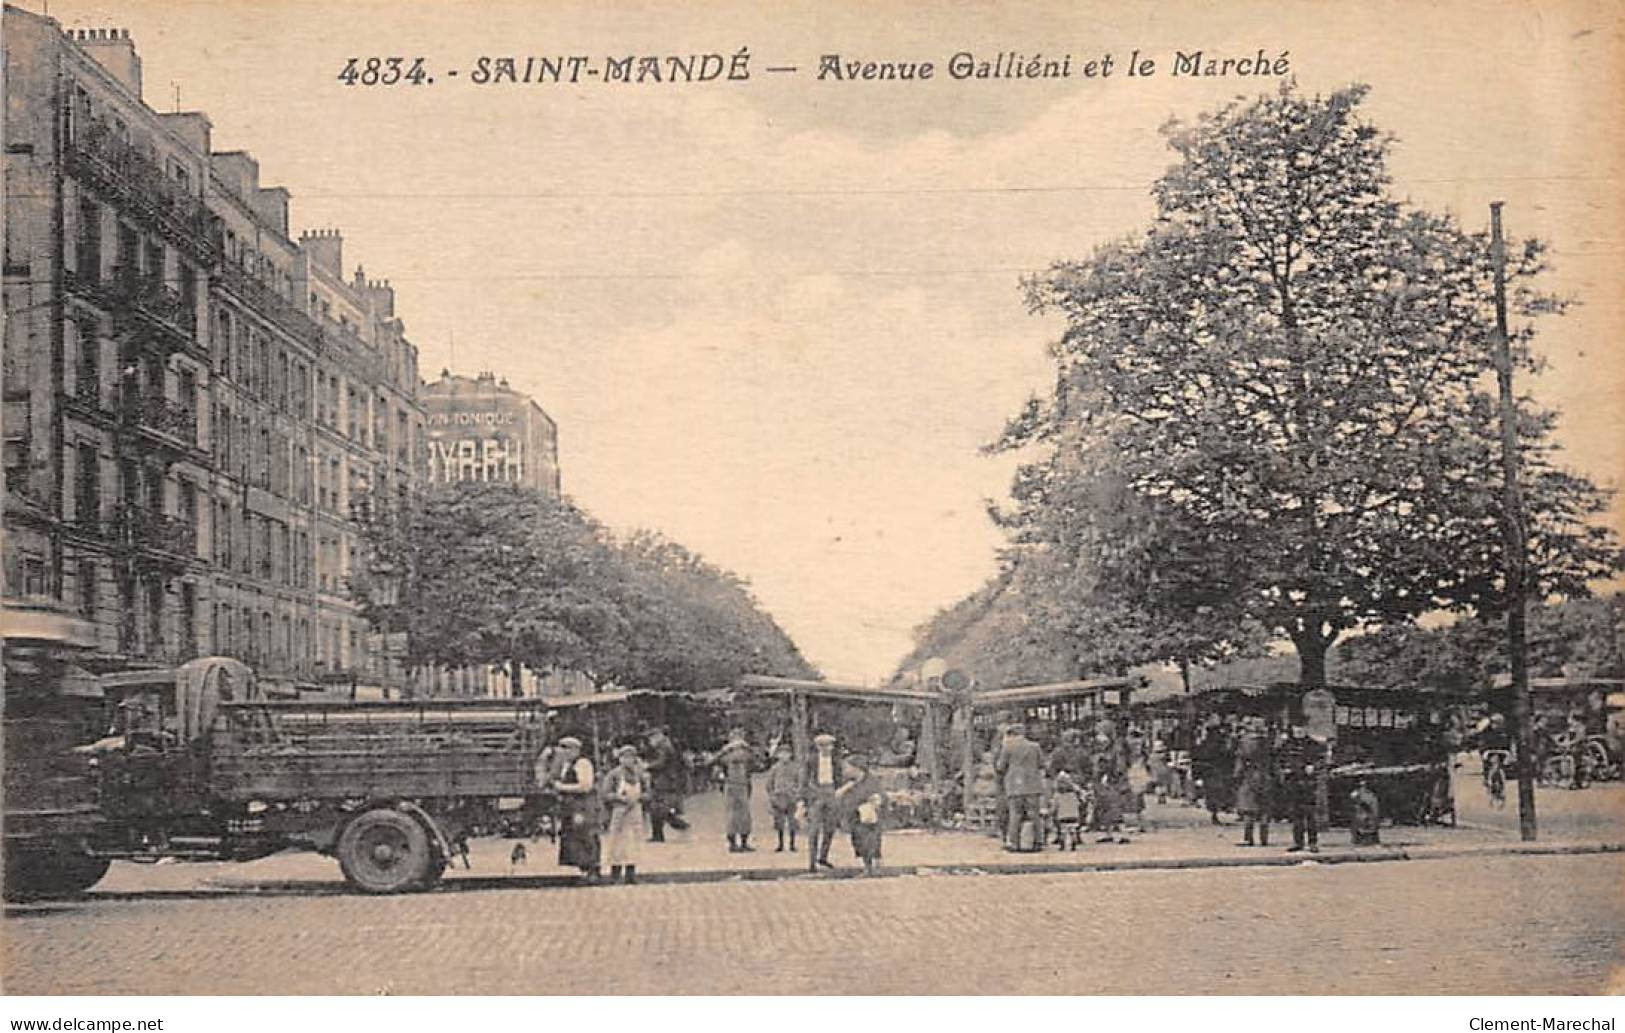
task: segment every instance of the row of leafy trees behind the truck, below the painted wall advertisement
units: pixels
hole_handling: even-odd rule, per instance
[[[507,482],[374,499],[353,591],[411,668],[575,671],[704,690],[814,677],[749,585],[653,531],[614,536],[567,499]]]

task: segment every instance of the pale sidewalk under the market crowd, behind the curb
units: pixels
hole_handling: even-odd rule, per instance
[[[829,879],[856,875],[850,841],[840,835],[830,851],[835,872],[808,874],[804,841],[798,853],[775,853],[765,794],[754,796],[754,853],[728,853],[723,838],[723,804],[718,793],[696,796],[687,804],[689,832],[668,832],[666,843],[647,843],[639,877],[648,882]],[[886,833],[882,869],[886,874],[1022,874],[1084,872],[1124,869],[1258,867],[1297,864],[1347,864],[1373,861],[1419,861],[1435,858],[1495,854],[1575,854],[1625,853],[1625,784],[1594,786],[1583,793],[1542,789],[1542,836],[1537,843],[1518,838],[1516,806],[1492,810],[1482,801],[1476,776],[1458,776],[1459,825],[1383,828],[1380,846],[1350,846],[1349,832],[1334,828],[1321,836],[1321,853],[1285,853],[1290,828],[1271,827],[1271,845],[1240,846],[1242,830],[1233,817],[1225,825],[1209,823],[1207,812],[1185,804],[1147,802],[1147,828],[1129,833],[1128,843],[1095,843],[1092,836],[1076,851],[1046,846],[1042,853],[1006,853],[998,838],[978,832],[892,830]],[[471,843],[470,867],[460,864],[445,874],[450,888],[489,885],[554,885],[577,880],[574,869],[554,864],[557,848],[546,841],[526,843],[528,859],[512,864],[510,840]],[[320,892],[343,885],[338,864],[310,853],[283,853],[245,864],[115,864],[98,892]]]

